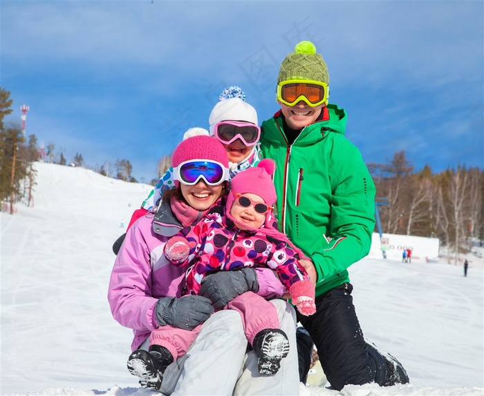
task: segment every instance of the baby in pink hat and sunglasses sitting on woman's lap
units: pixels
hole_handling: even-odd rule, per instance
[[[178,158],[173,157],[178,164]],[[176,175],[180,167],[174,168]],[[274,161],[263,159],[256,167],[239,172],[221,213],[209,213],[193,227],[184,228],[165,245],[165,255],[175,266],[187,268],[187,295],[198,295],[205,276],[216,271],[248,267],[274,270],[289,290],[293,304],[302,315],[316,312],[315,286],[298,263],[301,251],[277,230],[272,214],[277,196],[272,175]],[[183,177],[183,175],[182,175]],[[192,254],[190,254],[192,253]],[[277,311],[269,301],[253,293],[243,293],[227,304],[241,313],[245,336],[256,351],[261,374],[274,375],[287,356],[289,341],[279,327]],[[160,363],[186,353],[199,328],[185,330],[163,326],[153,330],[149,350],[160,353]]]

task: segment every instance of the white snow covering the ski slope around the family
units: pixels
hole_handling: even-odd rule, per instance
[[[113,241],[151,186],[36,164],[34,206],[1,213],[2,395],[160,395],[126,360],[131,330],[106,299]],[[301,395],[483,395],[482,251],[462,266],[362,259],[350,268],[364,335],[410,384],[301,385]]]

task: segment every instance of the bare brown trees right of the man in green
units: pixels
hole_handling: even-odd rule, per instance
[[[383,232],[436,237],[445,246],[469,251],[484,232],[484,172],[458,166],[434,174],[415,171],[396,152],[389,164],[368,164],[377,187]]]

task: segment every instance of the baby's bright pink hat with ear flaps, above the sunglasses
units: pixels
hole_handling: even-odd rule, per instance
[[[272,175],[276,164],[272,159],[263,159],[262,161],[252,168],[247,168],[237,173],[230,181],[231,189],[230,194],[227,197],[227,204],[225,213],[229,219],[234,221],[230,215],[230,208],[234,204],[236,194],[255,194],[259,195],[264,200],[264,203],[268,206],[273,206],[277,201],[276,188],[272,181]],[[266,226],[268,221],[274,219],[272,212],[266,213]]]

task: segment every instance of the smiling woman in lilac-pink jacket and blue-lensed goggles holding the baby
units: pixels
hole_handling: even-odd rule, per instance
[[[136,359],[130,357],[136,365],[130,365],[129,361],[129,370],[140,378],[142,386],[165,394],[299,393],[295,335],[292,334],[295,314],[286,302],[274,301],[274,306],[281,328],[286,326],[289,333],[292,358],[284,359],[278,375],[269,381],[251,379],[257,357],[255,362],[249,355],[245,359],[247,341],[238,313],[222,311],[210,317],[214,312],[212,301],[203,297],[203,293],[180,298],[185,270],[167,261],[163,255],[165,243],[185,226],[196,224],[224,194],[228,161],[225,149],[213,137],[190,137],[176,150],[179,148],[186,153],[183,162],[191,167],[187,172],[194,175],[194,180],[179,184],[176,189],[179,194],[163,201],[156,215],[148,212],[129,228],[111,273],[108,293],[111,312],[120,324],[133,329],[131,350],[138,351]],[[238,294],[252,290],[265,297],[283,293],[270,270],[246,268],[226,275],[230,274],[233,275],[221,281],[223,287],[230,285],[233,289],[228,298],[234,297],[234,290]],[[146,350],[152,330],[167,325],[191,330],[203,322],[192,348],[166,370],[147,370],[149,365],[138,359],[153,357]],[[212,341],[207,344],[205,339]],[[207,364],[208,361],[214,363]],[[203,375],[200,362],[204,362]]]

